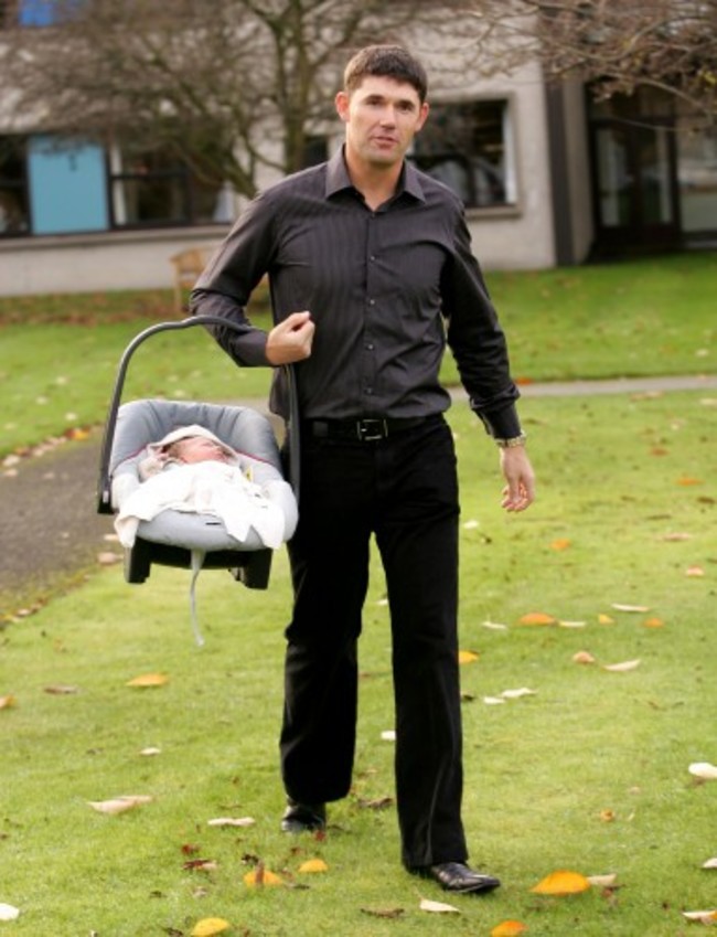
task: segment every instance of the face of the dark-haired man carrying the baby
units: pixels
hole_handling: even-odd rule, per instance
[[[346,147],[367,166],[400,162],[424,126],[428,104],[413,85],[368,76],[351,95],[339,92],[336,110],[346,125]]]

